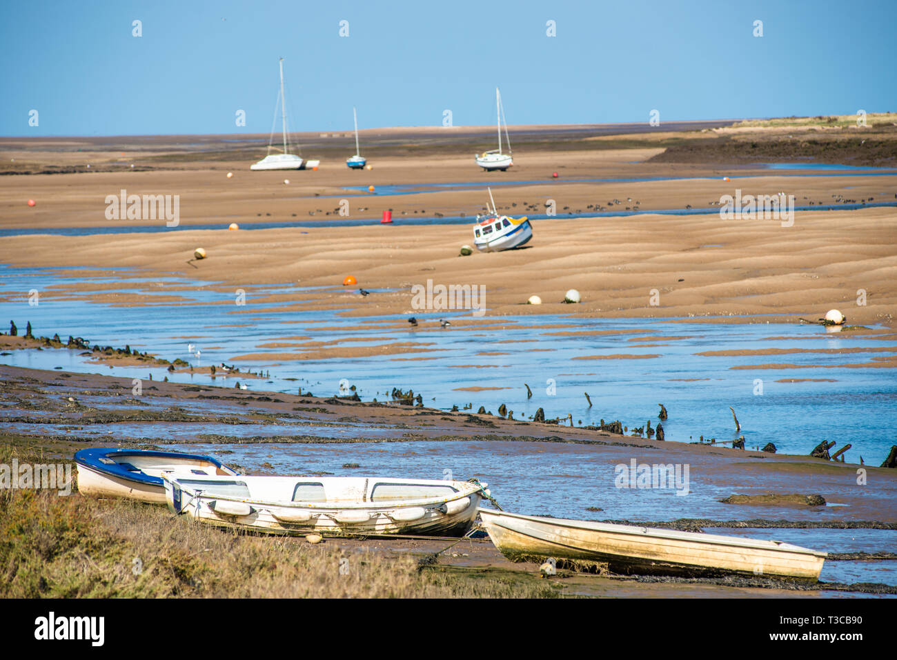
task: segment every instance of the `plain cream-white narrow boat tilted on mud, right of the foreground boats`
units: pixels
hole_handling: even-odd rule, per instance
[[[492,543],[511,560],[606,562],[622,574],[818,579],[824,552],[735,536],[520,516],[480,509]]]

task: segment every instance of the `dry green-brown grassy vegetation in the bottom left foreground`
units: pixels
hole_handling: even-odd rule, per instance
[[[13,457],[58,461],[4,439],[0,463]],[[344,554],[335,543],[238,534],[164,507],[39,490],[0,491],[0,577],[4,598],[532,598],[562,588],[528,573],[419,569],[410,555]]]

